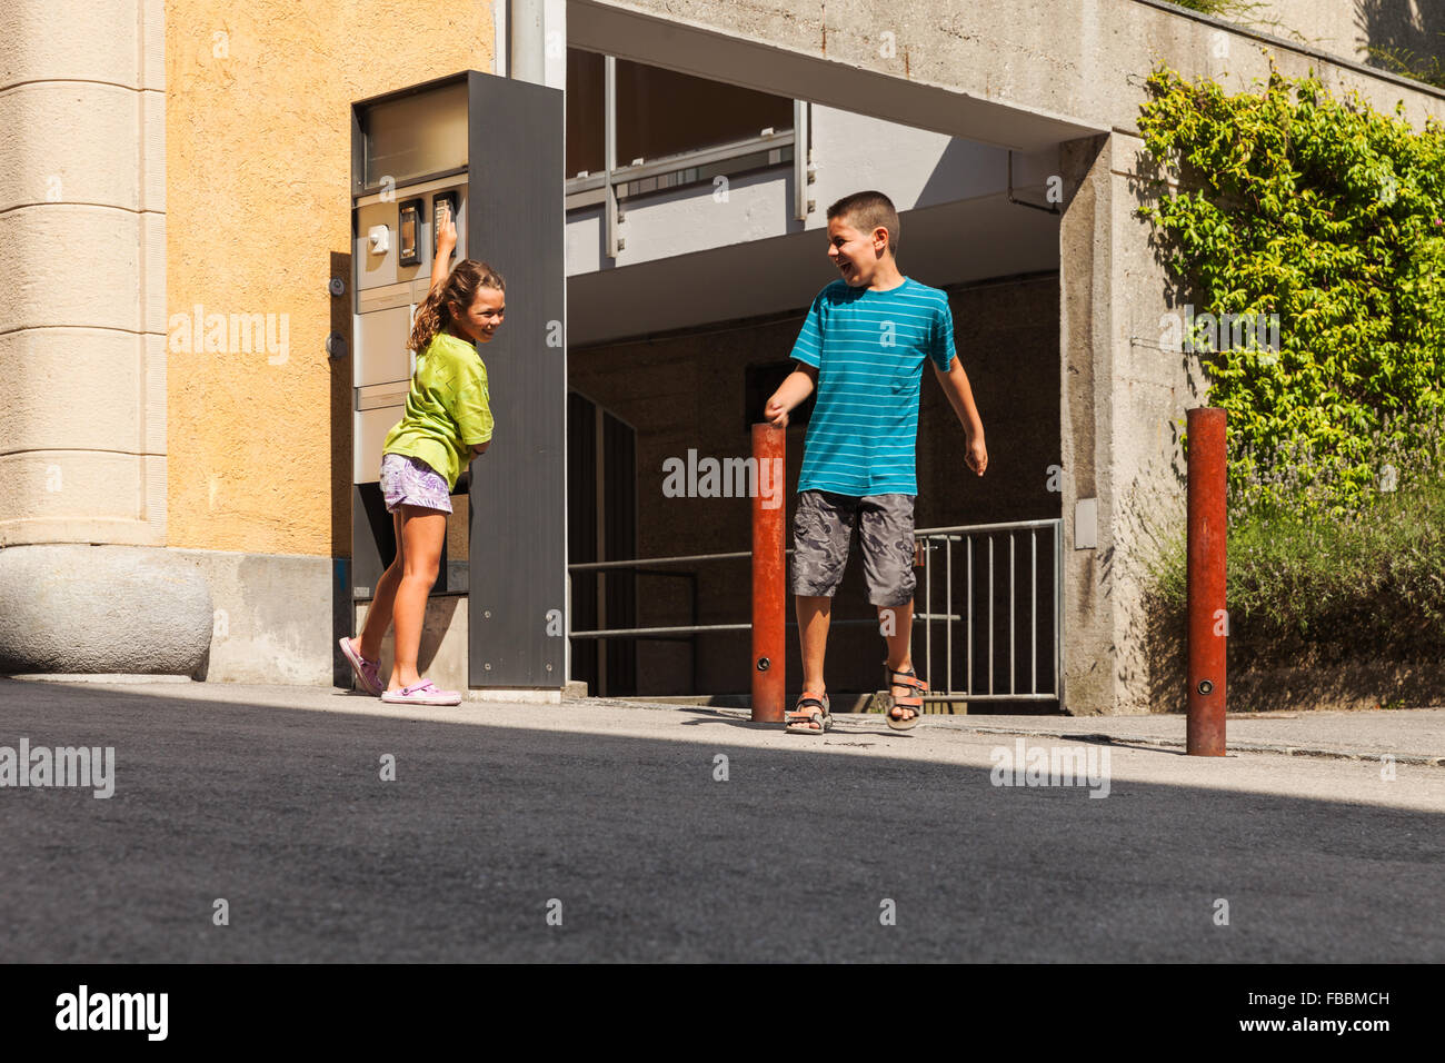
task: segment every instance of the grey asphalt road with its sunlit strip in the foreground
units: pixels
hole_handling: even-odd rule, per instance
[[[0,788],[6,962],[1445,960],[1425,764],[1114,746],[1094,798],[993,785],[1016,739],[957,720],[814,739],[701,709],[12,680],[0,720],[0,746],[116,751],[107,800]]]

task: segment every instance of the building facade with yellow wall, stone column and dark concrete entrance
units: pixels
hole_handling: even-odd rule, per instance
[[[350,686],[335,644],[366,609],[348,570],[354,305],[331,289],[353,268],[350,106],[477,69],[565,93],[564,127],[545,135],[566,158],[556,460],[574,568],[747,550],[746,502],[672,496],[665,463],[747,454],[759,396],[835,276],[827,205],[879,188],[902,211],[899,268],[949,295],[991,454],[985,477],[967,471],[925,375],[919,528],[1056,522],[1056,571],[994,570],[1058,589],[1062,667],[1040,654],[1043,687],[1061,683],[1071,713],[1170,707],[1150,697],[1142,557],[1183,519],[1179,425],[1207,385],[1160,343],[1179,307],[1134,214],[1143,78],[1163,62],[1241,91],[1273,61],[1376,110],[1403,101],[1416,127],[1445,117],[1445,93],[1370,65],[1371,48],[1441,55],[1436,6],[1279,0],[1266,17],[1243,27],[1163,0],[14,0],[0,13],[14,250],[0,671]],[[790,428],[789,486],[801,447]],[[484,550],[454,522],[452,560]],[[746,561],[571,580],[571,631],[747,620]],[[423,667],[451,684],[465,681],[464,583],[448,576],[423,641]],[[864,623],[837,629],[837,690],[879,686],[858,590],[854,563],[835,616]],[[1030,592],[1030,613],[1048,593]],[[1023,600],[998,594],[970,599],[980,623],[988,602]],[[920,628],[916,657],[925,638],[948,639],[955,668],[984,652],[958,644],[955,606],[932,600],[959,620]],[[1000,690],[1006,664],[1025,667],[1001,644],[974,661]],[[948,649],[929,645],[935,687]],[[749,683],[736,631],[578,638],[569,662],[604,693]]]

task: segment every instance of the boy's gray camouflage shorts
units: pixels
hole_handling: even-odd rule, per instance
[[[835,495],[798,492],[793,513],[795,594],[832,597],[848,565],[848,538],[861,519],[863,576],[868,602],[902,606],[913,600],[913,495]]]

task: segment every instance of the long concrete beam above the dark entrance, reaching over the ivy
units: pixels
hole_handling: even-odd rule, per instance
[[[1142,0],[850,0],[801,10],[572,0],[568,27],[574,43],[1010,148],[1137,129],[1143,78],[1160,61],[1230,91],[1250,88],[1269,75],[1266,49],[1283,74],[1316,68],[1331,91],[1358,88],[1376,110],[1403,100],[1416,127],[1445,116],[1445,91]]]

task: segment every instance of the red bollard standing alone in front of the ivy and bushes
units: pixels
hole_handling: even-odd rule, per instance
[[[1222,409],[1186,412],[1189,432],[1189,756],[1224,756],[1225,448]]]

